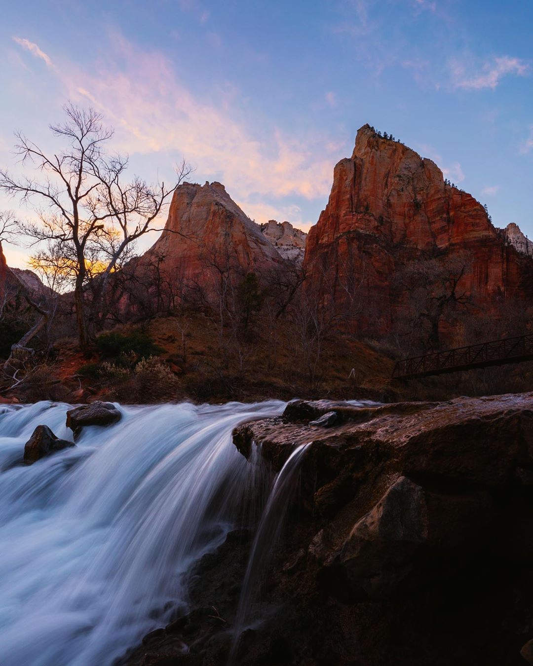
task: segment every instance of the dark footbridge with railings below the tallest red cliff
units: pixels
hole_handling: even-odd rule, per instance
[[[486,368],[533,360],[533,334],[471,344],[468,347],[432,352],[396,362],[394,379],[414,379],[430,375]]]

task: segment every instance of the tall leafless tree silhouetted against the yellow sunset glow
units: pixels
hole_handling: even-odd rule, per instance
[[[163,182],[151,186],[134,176],[126,180],[128,158],[107,153],[113,131],[106,129],[102,116],[93,109],[68,104],[66,121],[53,125],[51,132],[65,147],[47,155],[22,133],[16,133],[16,151],[23,165],[41,174],[35,178],[11,175],[0,170],[0,189],[31,204],[37,221],[22,225],[39,250],[40,261],[50,258],[49,244],[58,242],[71,265],[75,312],[80,345],[87,346],[86,286],[95,274],[92,307],[105,293],[109,276],[125,250],[154,230],[155,220],[191,168],[183,161],[169,187]]]

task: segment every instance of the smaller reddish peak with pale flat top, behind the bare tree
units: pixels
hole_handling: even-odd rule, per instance
[[[165,230],[141,259],[162,258],[161,267],[177,282],[208,294],[228,269],[245,276],[282,266],[270,240],[237,206],[219,182],[184,183],[174,193]]]

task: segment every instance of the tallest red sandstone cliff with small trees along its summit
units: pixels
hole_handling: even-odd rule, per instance
[[[448,309],[438,313],[441,332],[454,325],[461,300],[469,316],[493,318],[505,302],[531,300],[533,262],[506,243],[483,206],[444,182],[431,160],[364,125],[352,156],[335,166],[328,204],[308,234],[310,289],[340,311],[355,298],[362,313],[353,326],[397,331],[413,292],[406,267],[420,271],[420,262],[416,286],[440,289],[427,298]]]

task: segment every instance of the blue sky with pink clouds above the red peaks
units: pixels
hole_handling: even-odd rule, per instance
[[[73,101],[103,113],[132,174],[169,182],[185,157],[257,222],[308,230],[369,123],[533,238],[533,0],[2,5],[2,166],[20,168],[15,130],[57,149],[48,126]],[[12,266],[29,253],[5,246]]]

